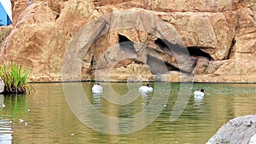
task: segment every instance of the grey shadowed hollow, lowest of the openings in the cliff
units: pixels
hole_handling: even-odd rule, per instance
[[[151,55],[147,55],[147,65],[150,67],[151,72],[156,74],[165,74],[169,71],[179,71],[178,68],[159,60]]]

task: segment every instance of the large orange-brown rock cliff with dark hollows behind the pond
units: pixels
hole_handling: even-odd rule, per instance
[[[255,1],[16,0],[1,64],[31,81],[256,83]]]

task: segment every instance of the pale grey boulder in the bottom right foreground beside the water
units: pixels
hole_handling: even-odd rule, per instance
[[[256,115],[231,119],[212,136],[207,144],[249,144],[255,143]]]

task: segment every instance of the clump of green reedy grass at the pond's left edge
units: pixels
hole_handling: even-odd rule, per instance
[[[29,68],[11,63],[9,66],[0,66],[0,77],[3,79],[3,93],[24,94],[30,92],[27,85]]]

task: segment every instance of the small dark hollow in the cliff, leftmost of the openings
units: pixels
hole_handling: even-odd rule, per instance
[[[127,55],[135,55],[137,52],[134,49],[133,42],[127,37],[119,34],[119,46],[120,49],[125,52]]]

